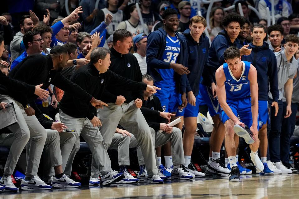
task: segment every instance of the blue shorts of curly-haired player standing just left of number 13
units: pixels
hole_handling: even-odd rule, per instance
[[[220,114],[220,104],[218,98],[213,98],[212,90],[209,86],[199,85],[200,93],[208,106],[211,117]]]

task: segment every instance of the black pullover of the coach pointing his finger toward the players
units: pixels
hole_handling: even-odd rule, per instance
[[[78,84],[83,90],[86,90],[90,95],[97,99],[102,99],[105,88],[109,85],[111,88],[119,90],[146,90],[146,84],[132,81],[130,79],[121,77],[116,73],[108,70],[102,74],[92,63],[79,68],[71,78],[71,81]],[[104,100],[103,100],[104,101]],[[116,101],[116,99],[115,99]],[[115,103],[115,101],[113,103]],[[107,101],[104,101],[107,102]],[[107,102],[108,103],[108,102]],[[84,100],[80,100],[74,94],[67,91],[59,103],[59,108],[66,114],[74,118],[88,118],[93,119],[96,116],[96,109]]]

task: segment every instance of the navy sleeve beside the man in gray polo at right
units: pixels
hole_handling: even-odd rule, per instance
[[[268,76],[270,91],[273,97],[273,101],[277,102],[279,99],[279,91],[278,91],[278,75],[277,75],[277,62],[274,53],[271,53],[270,63],[268,64]]]

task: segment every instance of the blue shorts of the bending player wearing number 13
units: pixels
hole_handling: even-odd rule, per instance
[[[236,117],[240,117],[240,121],[243,122],[248,128],[252,125],[252,113],[251,113],[251,98],[243,98],[236,100],[226,100],[226,103],[230,106]],[[221,109],[220,119],[223,123],[230,119],[227,114]],[[258,130],[261,128],[258,116]]]

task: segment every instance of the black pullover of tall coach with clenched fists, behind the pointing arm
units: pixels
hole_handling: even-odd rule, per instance
[[[142,74],[136,57],[132,53],[124,54],[118,53],[113,46],[111,47],[111,64],[109,70],[116,74],[126,77],[133,81],[142,81]],[[142,90],[124,90],[115,85],[107,85],[105,94],[102,96],[102,101],[106,103],[115,103],[117,96],[122,95],[126,98],[125,103],[129,103],[137,98],[143,100]]]

